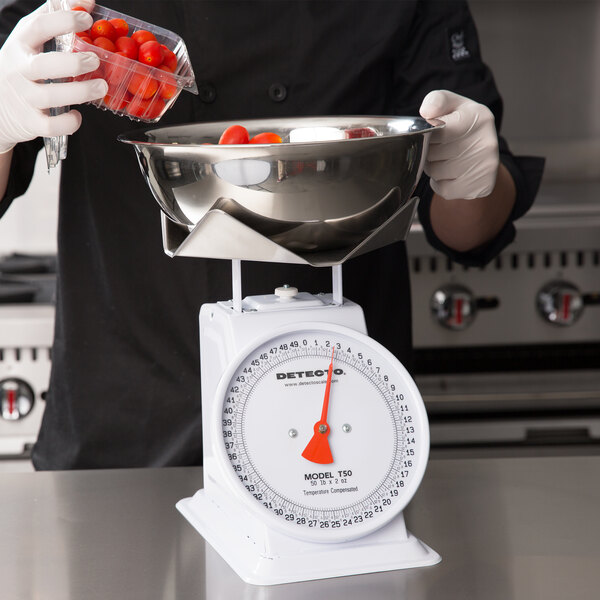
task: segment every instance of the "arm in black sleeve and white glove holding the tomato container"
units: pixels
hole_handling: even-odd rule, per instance
[[[99,59],[92,52],[44,53],[45,41],[88,28],[92,17],[39,5],[19,0],[0,10],[0,217],[27,189],[41,137],[69,135],[81,124],[76,110],[50,116],[47,109],[89,102],[107,90],[102,79],[44,83],[93,71]]]

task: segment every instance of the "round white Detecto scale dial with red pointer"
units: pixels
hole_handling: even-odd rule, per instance
[[[429,454],[423,401],[402,364],[368,336],[323,323],[240,353],[219,384],[213,434],[234,493],[309,541],[347,541],[389,522]]]

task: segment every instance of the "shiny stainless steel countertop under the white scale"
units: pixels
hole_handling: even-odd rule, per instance
[[[201,468],[0,473],[3,600],[600,597],[600,457],[431,460],[406,511],[434,567],[244,584],[177,512]]]

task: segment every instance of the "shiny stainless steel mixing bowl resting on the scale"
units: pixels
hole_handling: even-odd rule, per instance
[[[148,128],[119,140],[134,146],[154,197],[178,225],[192,231],[209,211],[223,211],[304,253],[355,247],[385,223],[410,199],[430,134],[443,127],[420,117],[249,120],[237,124],[283,143],[218,145],[231,124]]]

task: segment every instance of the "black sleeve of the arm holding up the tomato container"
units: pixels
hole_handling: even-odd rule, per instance
[[[21,0],[9,2],[2,7],[2,10],[0,10],[0,46],[4,44],[19,20],[41,4],[42,2],[39,0]],[[8,187],[0,200],[0,217],[8,210],[15,198],[22,196],[27,191],[33,176],[35,160],[42,144],[41,139],[36,139],[15,146]]]

